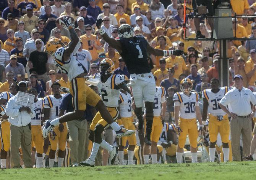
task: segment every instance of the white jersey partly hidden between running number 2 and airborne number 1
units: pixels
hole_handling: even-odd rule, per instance
[[[131,94],[120,92],[119,96],[119,113],[121,118],[130,118],[131,117]]]

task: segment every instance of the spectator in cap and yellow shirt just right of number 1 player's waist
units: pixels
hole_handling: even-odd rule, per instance
[[[168,69],[166,68],[166,62],[164,58],[159,60],[159,69],[154,72],[154,76],[156,76],[156,86],[159,86],[161,81],[168,78]]]

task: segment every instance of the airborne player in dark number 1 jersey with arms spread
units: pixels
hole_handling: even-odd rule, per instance
[[[155,56],[179,56],[183,54],[181,50],[166,51],[152,48],[142,36],[134,36],[133,28],[128,24],[120,25],[118,29],[118,37],[110,38],[101,24],[103,20],[97,19],[96,26],[102,38],[112,47],[117,49],[119,54],[125,61],[126,67],[131,74],[128,86],[132,88],[134,97],[135,110],[134,113],[139,120],[139,134],[143,136],[143,100],[145,101],[146,115],[146,134],[144,143],[151,145],[151,131],[154,118],[153,102],[156,92],[156,83],[151,69],[147,62],[147,52]]]

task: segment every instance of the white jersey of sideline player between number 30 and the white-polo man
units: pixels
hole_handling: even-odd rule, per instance
[[[214,93],[211,89],[204,89],[202,97],[206,98],[210,107],[210,113],[214,116],[224,116],[226,113],[220,108],[219,102],[228,92],[228,87],[219,88],[219,92]]]

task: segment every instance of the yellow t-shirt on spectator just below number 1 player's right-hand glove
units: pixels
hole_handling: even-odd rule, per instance
[[[172,57],[168,57],[165,59],[166,61],[166,67],[167,68],[172,68],[175,65],[174,68],[174,75],[173,77],[178,79],[179,76],[183,73],[183,71],[187,70],[186,63],[184,59],[180,56],[175,56],[174,59]]]

